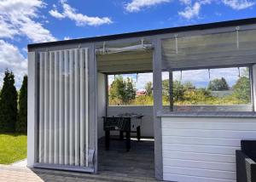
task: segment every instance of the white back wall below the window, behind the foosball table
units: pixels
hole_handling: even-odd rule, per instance
[[[153,106],[108,106],[108,116],[115,116],[122,113],[137,113],[143,115],[141,126],[142,136],[154,137]],[[134,134],[133,134],[134,135]]]

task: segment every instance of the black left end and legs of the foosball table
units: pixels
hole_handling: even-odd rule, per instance
[[[130,117],[103,117],[105,131],[105,147],[109,150],[110,131],[119,131],[120,139],[123,139],[123,133],[126,134],[126,151],[131,149],[131,118]]]

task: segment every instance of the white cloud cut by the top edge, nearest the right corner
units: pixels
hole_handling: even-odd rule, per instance
[[[247,0],[223,0],[223,3],[236,10],[248,9],[255,5],[255,2]]]

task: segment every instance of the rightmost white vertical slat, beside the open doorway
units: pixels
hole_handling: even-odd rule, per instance
[[[85,166],[88,167],[88,153],[89,153],[89,69],[88,69],[88,48],[85,49]]]

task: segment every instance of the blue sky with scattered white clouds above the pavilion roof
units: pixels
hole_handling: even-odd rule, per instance
[[[26,45],[256,17],[256,0],[0,0],[0,85],[26,74]]]

